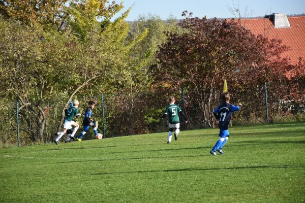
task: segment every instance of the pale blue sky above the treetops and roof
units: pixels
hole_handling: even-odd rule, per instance
[[[153,14],[160,16],[166,20],[170,15],[177,19],[182,19],[182,11],[187,10],[193,12],[193,17],[202,18],[231,18],[234,17],[226,6],[233,7],[232,0],[123,0],[126,11],[132,7],[127,21],[136,20],[139,15]],[[110,1],[109,1],[110,2]],[[116,2],[120,2],[116,0]],[[266,13],[286,13],[302,14],[305,13],[305,0],[234,0],[234,4],[238,6],[244,15],[247,7],[248,13],[252,17],[264,16]]]

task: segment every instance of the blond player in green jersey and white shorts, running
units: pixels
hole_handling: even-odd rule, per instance
[[[76,118],[78,118],[80,116],[80,113],[78,113],[79,102],[78,102],[78,100],[74,100],[74,101],[72,101],[72,103],[73,103],[73,105],[70,105],[70,108],[68,110],[66,110],[66,118],[65,118],[65,123],[64,123],[64,131],[63,132],[57,132],[58,136],[54,140],[54,143],[56,145],[59,144],[58,143],[59,139],[62,138],[62,136],[67,132],[67,129],[71,129],[72,128],[72,125],[74,125],[75,128],[73,129],[73,132],[72,132],[71,136],[72,135],[74,136],[74,134],[76,133],[77,129],[79,128],[79,124],[72,120],[74,118],[74,116],[76,116]]]

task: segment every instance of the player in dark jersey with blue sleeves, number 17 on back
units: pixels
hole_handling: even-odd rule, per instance
[[[238,111],[241,107],[241,104],[238,104],[237,107],[235,107],[232,104],[229,104],[230,100],[230,93],[224,92],[221,95],[223,103],[218,106],[214,112],[213,115],[216,117],[216,119],[219,121],[219,140],[216,142],[213,149],[210,151],[210,153],[214,156],[217,156],[216,151],[218,151],[221,154],[224,154],[222,151],[223,146],[226,144],[227,140],[230,137],[229,133],[229,124],[232,117],[232,112]]]

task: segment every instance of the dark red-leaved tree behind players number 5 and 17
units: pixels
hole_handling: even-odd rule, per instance
[[[258,93],[257,86],[268,80],[279,87],[279,81],[286,80],[285,73],[291,66],[280,54],[289,48],[280,40],[255,37],[235,20],[189,16],[178,25],[186,31],[166,32],[167,42],[157,54],[160,69],[156,76],[177,90],[185,87],[209,122],[214,121],[211,112],[219,104],[224,79],[234,92],[233,102],[239,99],[250,103],[243,111],[248,118],[257,106],[250,98],[261,104],[264,95]],[[283,92],[273,93],[279,99]]]

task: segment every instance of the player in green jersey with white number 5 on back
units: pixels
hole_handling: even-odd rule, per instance
[[[185,118],[186,123],[188,122],[188,118],[186,117],[186,115],[181,111],[179,106],[175,105],[174,103],[175,103],[175,97],[170,96],[169,97],[169,105],[166,107],[166,110],[165,110],[163,116],[161,117],[161,118],[165,118],[166,116],[168,116],[169,131],[168,131],[167,144],[170,144],[170,142],[171,142],[171,137],[172,137],[173,131],[174,131],[175,140],[178,139],[177,135],[180,131],[179,130],[180,123],[179,123],[178,113],[180,113]]]

